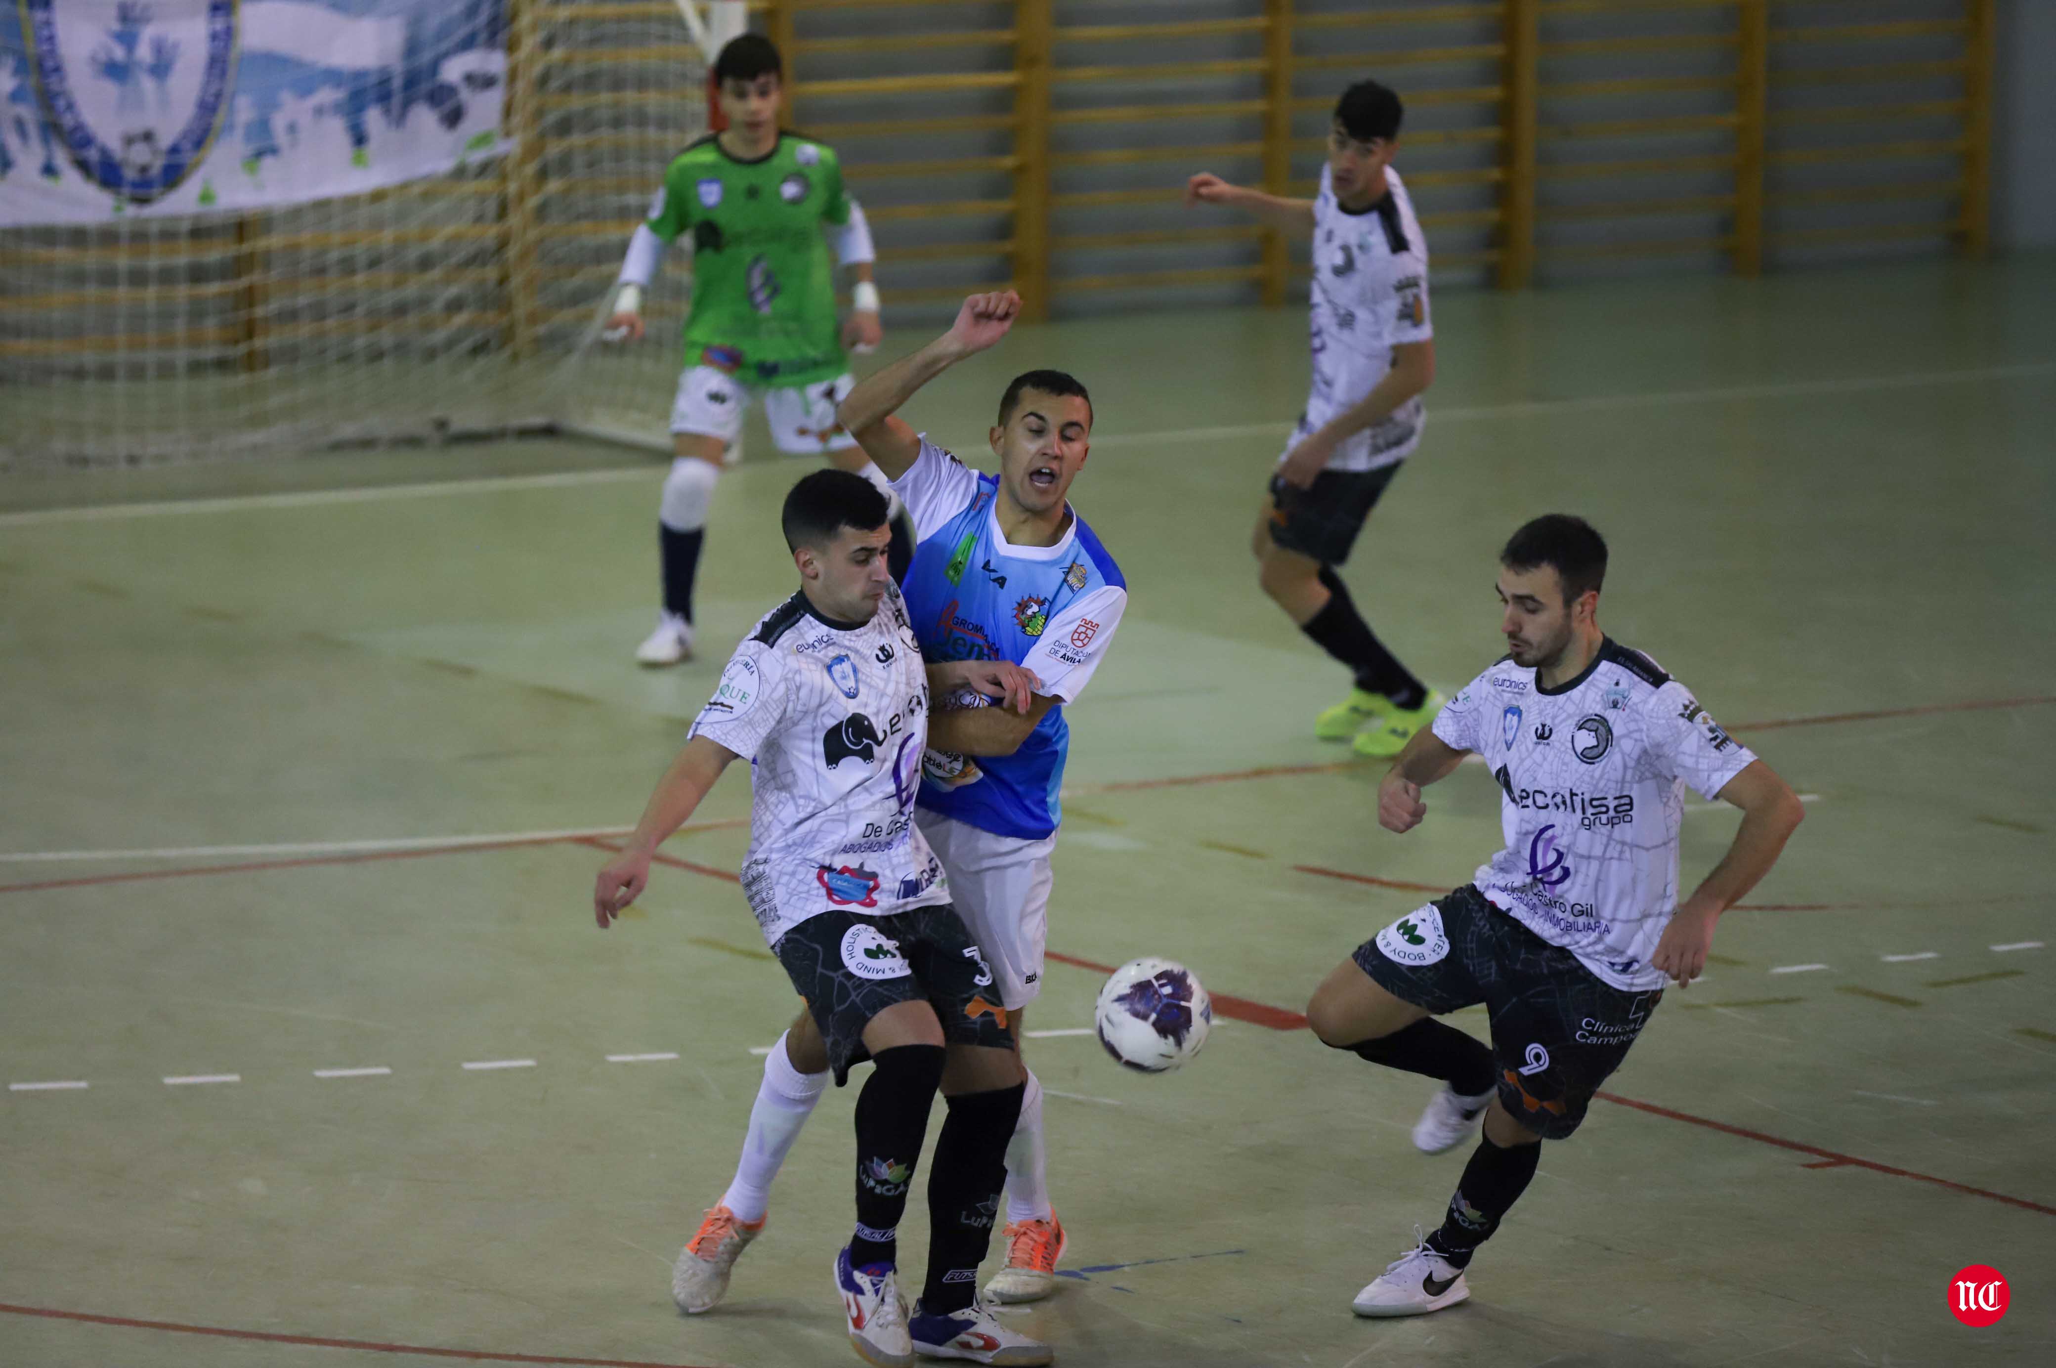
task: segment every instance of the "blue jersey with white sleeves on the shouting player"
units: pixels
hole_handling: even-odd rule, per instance
[[[1069,660],[1073,642],[1081,652],[1098,627],[1075,621],[1067,607],[1100,588],[1125,590],[1127,580],[1075,510],[1063,543],[1007,547],[993,520],[997,490],[997,477],[979,475],[970,504],[923,537],[907,568],[903,588],[921,656],[1022,664],[1040,650]],[[993,835],[1042,839],[1063,821],[1057,790],[1069,745],[1057,704],[1014,755],[975,757],[981,778],[950,786],[923,776],[917,802]]]

